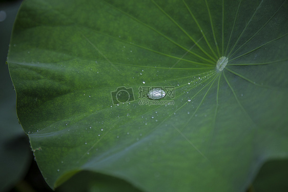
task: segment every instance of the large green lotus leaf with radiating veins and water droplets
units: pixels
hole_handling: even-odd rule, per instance
[[[47,183],[89,170],[143,191],[244,191],[288,155],[287,6],[24,2],[8,63]]]

